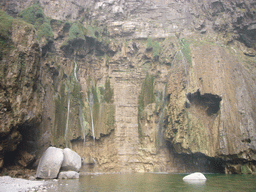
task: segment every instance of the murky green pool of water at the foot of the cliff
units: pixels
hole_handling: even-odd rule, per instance
[[[48,191],[256,191],[256,175],[205,174],[205,183],[186,183],[184,174],[105,174],[59,180]]]

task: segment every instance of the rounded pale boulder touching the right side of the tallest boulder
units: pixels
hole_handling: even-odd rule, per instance
[[[66,171],[79,171],[81,168],[81,157],[69,148],[63,149],[64,160],[61,169]]]

